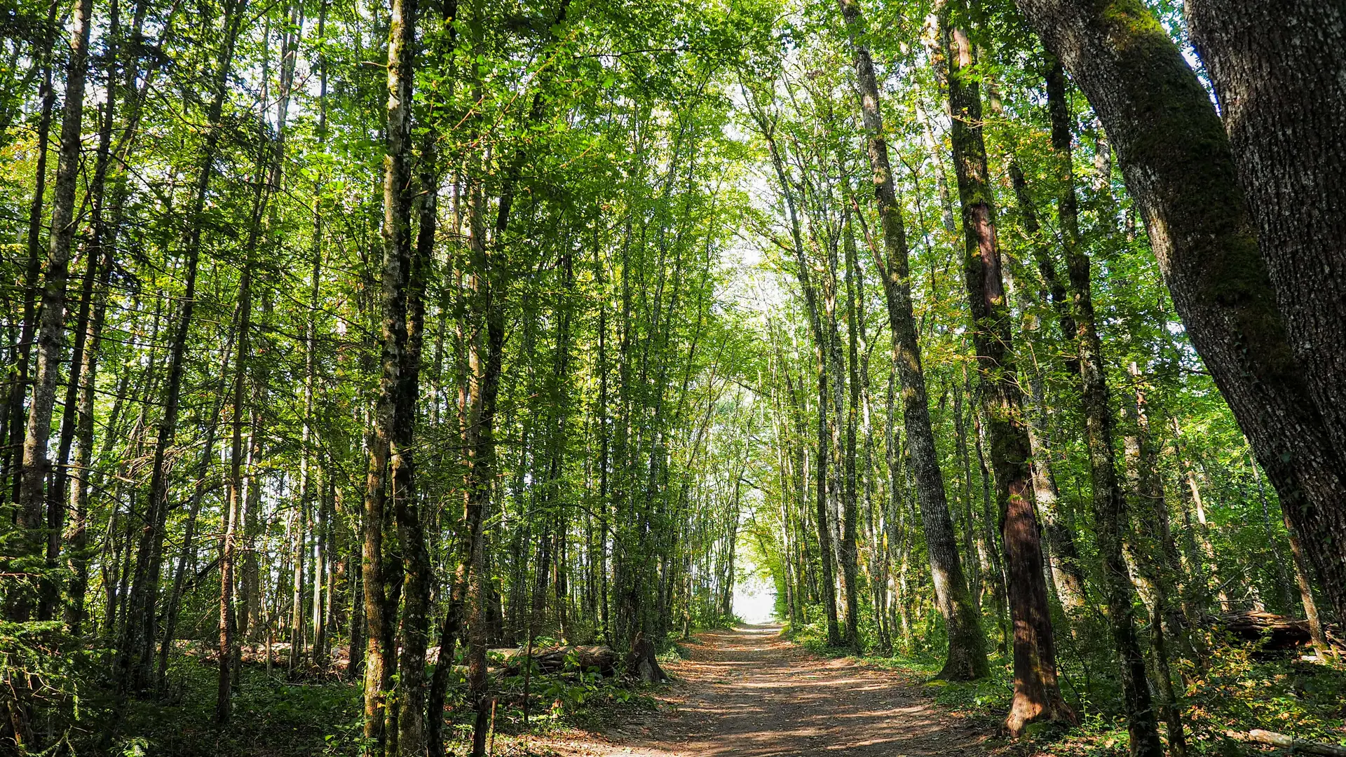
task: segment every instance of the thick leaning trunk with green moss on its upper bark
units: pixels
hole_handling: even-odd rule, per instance
[[[1315,400],[1320,369],[1311,373],[1296,358],[1276,307],[1210,97],[1139,0],[1018,5],[1106,127],[1187,334],[1346,616],[1346,461],[1334,446],[1334,422]],[[1323,260],[1311,257],[1315,265]]]

